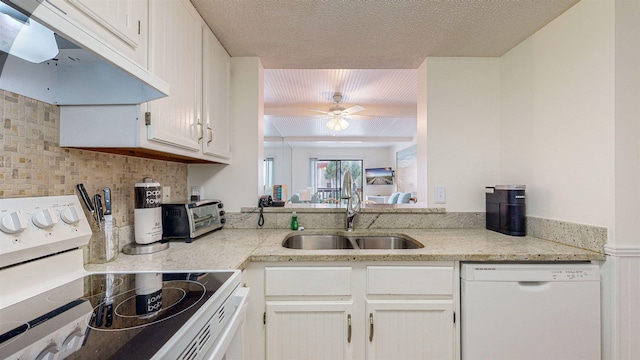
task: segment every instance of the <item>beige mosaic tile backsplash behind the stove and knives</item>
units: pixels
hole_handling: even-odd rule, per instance
[[[58,106],[5,90],[0,95],[0,198],[77,195],[79,183],[89,195],[102,195],[108,186],[121,246],[133,241],[136,182],[152,177],[171,187],[172,201],[187,200],[186,164],[62,148]],[[91,262],[88,249],[85,255],[85,262]]]

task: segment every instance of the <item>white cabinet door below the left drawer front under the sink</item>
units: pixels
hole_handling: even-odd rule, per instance
[[[267,360],[349,359],[353,303],[267,301]]]

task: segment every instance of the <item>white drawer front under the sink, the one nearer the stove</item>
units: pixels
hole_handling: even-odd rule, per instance
[[[351,295],[351,268],[267,267],[265,295]]]

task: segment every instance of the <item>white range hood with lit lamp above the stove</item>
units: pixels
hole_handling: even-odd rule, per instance
[[[0,6],[0,89],[55,105],[140,104],[169,94],[164,80],[47,0],[2,0]],[[11,31],[16,24],[18,30]],[[37,24],[51,31],[57,54],[51,56],[55,51],[50,50],[49,55],[25,56],[20,51]]]

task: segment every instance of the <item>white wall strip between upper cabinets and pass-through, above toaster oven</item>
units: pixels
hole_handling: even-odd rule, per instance
[[[257,57],[231,58],[230,165],[189,165],[187,185],[203,185],[205,198],[227,211],[255,206],[262,194],[264,68]]]

